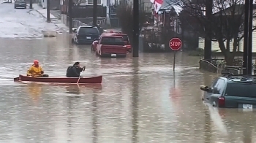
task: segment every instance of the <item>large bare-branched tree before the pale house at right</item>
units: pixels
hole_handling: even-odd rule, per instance
[[[194,21],[190,26],[192,30],[200,32],[203,38],[207,36],[206,28],[211,26],[211,40],[218,42],[227,65],[233,65],[238,44],[244,37],[244,0],[211,0],[211,21],[206,18],[206,4],[210,0],[181,1],[183,23],[190,23],[189,19],[195,20],[196,23]],[[230,47],[233,49],[230,50]]]

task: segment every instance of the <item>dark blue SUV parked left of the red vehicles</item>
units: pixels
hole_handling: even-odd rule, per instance
[[[91,44],[95,39],[99,39],[99,29],[96,26],[79,26],[73,28],[72,43]]]

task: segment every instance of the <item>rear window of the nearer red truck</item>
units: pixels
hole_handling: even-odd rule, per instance
[[[106,36],[102,37],[101,45],[124,45],[124,40],[121,37]]]

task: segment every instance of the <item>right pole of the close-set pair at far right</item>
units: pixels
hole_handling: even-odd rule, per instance
[[[253,20],[253,0],[249,2],[249,28],[248,28],[248,73],[252,75],[252,20]]]

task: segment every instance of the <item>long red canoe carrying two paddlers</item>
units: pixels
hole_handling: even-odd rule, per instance
[[[78,82],[79,80],[79,82]],[[98,77],[26,77],[19,75],[14,81],[30,81],[30,82],[56,82],[56,83],[102,83],[102,76]]]

